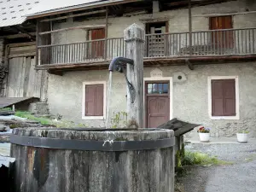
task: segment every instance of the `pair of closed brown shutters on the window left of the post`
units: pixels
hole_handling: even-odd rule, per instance
[[[103,116],[103,84],[85,84],[85,116]]]

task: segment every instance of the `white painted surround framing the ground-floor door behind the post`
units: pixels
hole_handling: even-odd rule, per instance
[[[146,101],[146,92],[145,92],[145,84],[150,81],[155,81],[155,82],[159,82],[159,81],[169,81],[169,100],[170,100],[170,119],[172,119],[172,114],[173,114],[173,82],[172,82],[172,77],[151,77],[151,78],[144,78],[143,79],[143,108],[144,108],[144,127],[148,126],[148,118],[147,118],[147,101]]]

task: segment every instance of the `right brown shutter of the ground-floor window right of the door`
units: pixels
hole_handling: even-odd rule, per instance
[[[236,115],[236,82],[235,79],[226,79],[223,82],[224,116]]]

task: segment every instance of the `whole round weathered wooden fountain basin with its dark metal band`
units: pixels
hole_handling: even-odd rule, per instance
[[[18,128],[11,143],[16,192],[173,192],[171,130]]]

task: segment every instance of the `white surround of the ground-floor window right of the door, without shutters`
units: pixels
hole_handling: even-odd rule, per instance
[[[236,115],[234,116],[212,116],[212,80],[218,79],[235,79],[235,89],[236,89]],[[239,113],[239,84],[238,84],[238,76],[210,76],[208,77],[208,114],[210,119],[218,120],[218,119],[227,119],[227,120],[238,120],[240,119]]]

